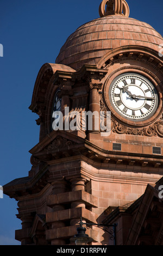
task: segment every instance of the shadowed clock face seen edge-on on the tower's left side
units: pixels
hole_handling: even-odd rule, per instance
[[[55,120],[59,120],[59,113],[57,111],[61,111],[61,99],[58,96],[58,93],[60,90],[57,91],[57,93],[54,96],[53,101],[53,108],[52,108],[52,130],[55,130],[55,126],[59,126],[59,122]]]

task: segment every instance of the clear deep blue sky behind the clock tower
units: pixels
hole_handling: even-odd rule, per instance
[[[130,17],[163,35],[162,0],[127,0]],[[36,76],[55,63],[61,46],[79,26],[99,17],[101,0],[0,0],[1,169],[0,185],[28,176],[28,151],[39,142],[36,114],[30,106]],[[0,245],[17,245],[17,202],[0,199]]]

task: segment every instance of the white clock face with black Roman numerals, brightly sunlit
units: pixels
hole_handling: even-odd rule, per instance
[[[158,93],[146,77],[136,73],[122,74],[109,88],[112,107],[128,120],[143,121],[152,117],[158,107]]]

